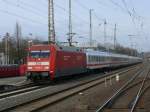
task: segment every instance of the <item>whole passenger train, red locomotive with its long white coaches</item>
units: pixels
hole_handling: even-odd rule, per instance
[[[32,45],[27,57],[27,78],[54,80],[62,76],[135,64],[141,61],[139,57],[92,49],[84,50],[55,44]]]

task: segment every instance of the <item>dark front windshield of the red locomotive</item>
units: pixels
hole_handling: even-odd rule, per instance
[[[30,56],[32,58],[48,58],[50,51],[31,51]]]

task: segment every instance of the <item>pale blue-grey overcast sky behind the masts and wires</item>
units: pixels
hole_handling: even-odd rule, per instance
[[[54,4],[57,40],[66,41],[68,0],[54,0]],[[89,41],[89,9],[93,9],[93,40],[104,42],[106,19],[107,42],[113,43],[116,23],[118,43],[131,47],[132,42],[138,50],[150,50],[149,0],[72,0],[72,5],[74,40]],[[24,36],[32,33],[47,40],[47,0],[0,0],[0,36],[14,34],[16,21]],[[130,39],[128,35],[135,36]]]

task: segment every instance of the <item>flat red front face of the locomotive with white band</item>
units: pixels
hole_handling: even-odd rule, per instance
[[[50,46],[33,45],[28,57],[27,72],[29,77],[50,77]]]

